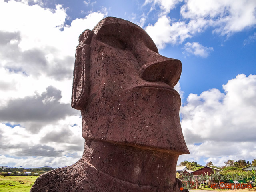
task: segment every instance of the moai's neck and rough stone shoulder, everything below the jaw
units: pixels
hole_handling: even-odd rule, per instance
[[[84,151],[76,164],[40,176],[30,192],[181,191],[182,183],[170,176],[176,164],[166,161],[178,155],[94,140],[86,142]]]

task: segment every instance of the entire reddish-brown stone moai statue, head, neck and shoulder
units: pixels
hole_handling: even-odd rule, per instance
[[[85,30],[76,48],[71,104],[81,110],[84,154],[40,176],[30,191],[182,191],[176,164],[189,151],[173,89],[180,74],[180,60],[158,54],[136,24],[107,17]]]

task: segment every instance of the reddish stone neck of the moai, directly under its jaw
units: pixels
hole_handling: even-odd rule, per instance
[[[86,139],[81,159],[112,178],[146,186],[176,182],[178,154]]]

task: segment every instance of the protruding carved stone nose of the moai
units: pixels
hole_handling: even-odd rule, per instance
[[[173,88],[180,79],[181,67],[180,60],[159,55],[156,61],[144,64],[139,74],[144,80],[162,81]]]

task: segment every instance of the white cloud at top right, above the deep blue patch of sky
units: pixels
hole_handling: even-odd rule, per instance
[[[212,32],[230,36],[256,25],[256,1],[204,1],[187,0],[180,8],[182,18],[172,20],[168,17],[170,10],[180,1],[146,0],[144,4],[160,5],[162,10],[154,24],[148,24],[145,30],[152,37],[159,49],[166,44],[180,44],[195,34],[212,27]]]

